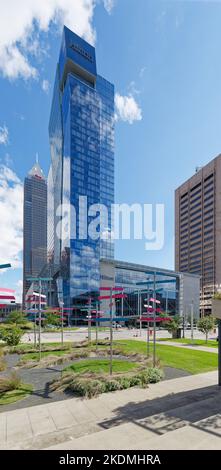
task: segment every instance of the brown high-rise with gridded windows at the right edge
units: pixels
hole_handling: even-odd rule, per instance
[[[175,191],[175,265],[201,276],[201,315],[210,314],[221,285],[221,155]]]

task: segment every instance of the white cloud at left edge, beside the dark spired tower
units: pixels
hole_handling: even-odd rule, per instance
[[[23,185],[6,165],[0,165],[0,264],[22,266],[23,248]]]

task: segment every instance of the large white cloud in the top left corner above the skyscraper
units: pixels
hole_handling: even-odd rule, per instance
[[[33,59],[44,53],[39,36],[48,32],[52,24],[59,27],[66,24],[94,43],[92,20],[96,1],[0,0],[0,73],[9,79],[37,78]]]

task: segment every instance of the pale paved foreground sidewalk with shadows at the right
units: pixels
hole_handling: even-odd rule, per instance
[[[191,437],[194,429],[206,436],[208,445],[218,448],[221,390],[216,384],[217,372],[209,372],[92,400],[72,398],[3,412],[0,449],[144,449],[151,440],[154,446],[154,439],[159,443],[159,437],[165,440],[166,435],[171,446],[175,445],[170,441],[172,432],[188,426],[189,439],[187,432],[180,441],[185,448],[203,441]]]

